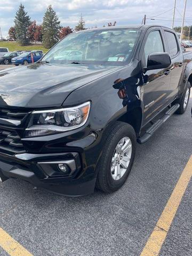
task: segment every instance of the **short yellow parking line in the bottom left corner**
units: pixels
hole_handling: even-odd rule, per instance
[[[11,256],[33,256],[2,228],[0,228],[0,246]]]

